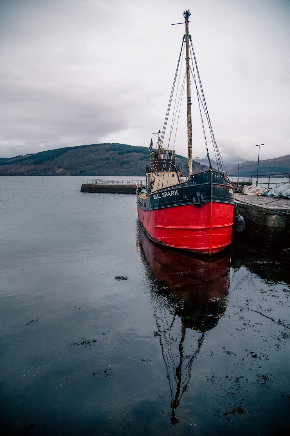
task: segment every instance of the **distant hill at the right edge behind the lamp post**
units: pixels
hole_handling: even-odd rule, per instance
[[[248,160],[239,165],[239,174],[250,175],[257,174],[258,161]],[[238,166],[230,168],[228,174],[238,174]],[[274,159],[266,159],[259,161],[259,175],[268,175],[276,173],[290,173],[290,154],[286,156],[275,157]]]

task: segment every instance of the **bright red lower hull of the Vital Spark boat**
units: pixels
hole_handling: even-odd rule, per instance
[[[198,208],[186,204],[148,211],[137,207],[137,211],[143,230],[159,244],[201,254],[230,245],[233,204],[209,201]]]

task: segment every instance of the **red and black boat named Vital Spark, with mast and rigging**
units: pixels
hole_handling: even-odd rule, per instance
[[[163,131],[161,135],[159,135],[159,131],[157,136],[156,150],[151,150],[151,140],[150,163],[147,166],[146,184],[140,183],[137,185],[137,211],[144,232],[154,242],[173,249],[213,255],[225,249],[231,242],[234,186],[229,180],[213,135],[191,36],[188,32],[189,10],[183,12],[183,17],[185,19],[185,34],[183,35],[170,103]],[[188,178],[181,177],[180,169],[175,163],[175,151],[169,150],[169,142],[167,148],[163,146],[170,104],[173,99],[174,85],[177,80],[184,46],[186,49],[186,75],[183,83],[184,86],[185,83],[187,85]],[[192,162],[190,72],[192,72],[193,82],[197,89],[197,99],[209,161],[209,169],[196,174],[193,174]],[[181,94],[182,92],[180,92]],[[173,114],[173,119],[178,118],[180,110],[178,105],[179,102],[175,105],[176,112],[175,115]],[[204,114],[202,114],[202,110]],[[210,141],[217,158],[217,169],[213,169],[210,161],[204,119],[207,121]],[[171,127],[170,136],[172,130]]]

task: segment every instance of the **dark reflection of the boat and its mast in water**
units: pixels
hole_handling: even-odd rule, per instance
[[[153,282],[150,300],[157,325],[154,336],[159,337],[167,369],[170,422],[175,425],[176,409],[189,387],[193,360],[208,330],[226,311],[230,255],[216,260],[188,257],[151,242],[138,227],[137,245]]]

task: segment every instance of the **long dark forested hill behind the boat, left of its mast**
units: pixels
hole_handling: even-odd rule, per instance
[[[60,176],[145,176],[150,151],[147,147],[102,143],[63,147],[54,150],[0,158],[0,175]],[[175,155],[183,176],[187,158]],[[208,169],[194,162],[197,170]]]

